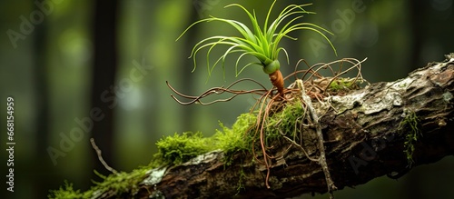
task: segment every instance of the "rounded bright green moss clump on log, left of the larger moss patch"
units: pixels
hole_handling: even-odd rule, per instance
[[[202,133],[185,132],[166,136],[156,143],[158,153],[154,156],[163,159],[164,163],[182,164],[191,158],[210,152],[215,147],[209,138],[203,137]]]

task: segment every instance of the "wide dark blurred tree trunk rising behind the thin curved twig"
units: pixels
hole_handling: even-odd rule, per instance
[[[97,0],[94,4],[94,65],[92,76],[91,112],[101,110],[100,121],[94,122],[92,137],[103,151],[104,161],[113,164],[114,107],[117,104],[115,90],[122,92],[121,85],[115,84],[117,71],[116,17],[118,1]],[[117,87],[118,86],[118,87]],[[91,113],[92,114],[92,113]],[[107,174],[106,169],[93,152],[94,169]],[[97,180],[99,177],[94,176]]]

